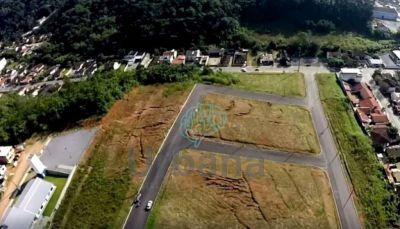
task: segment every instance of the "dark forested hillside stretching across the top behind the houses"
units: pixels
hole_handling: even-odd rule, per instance
[[[40,32],[50,43],[36,57],[74,62],[130,49],[256,46],[261,32],[363,32],[373,0],[0,0],[0,34],[15,38],[57,8]]]

